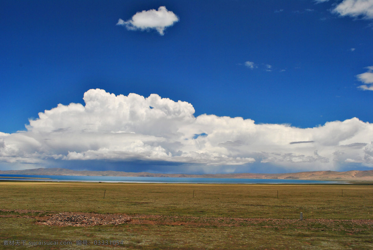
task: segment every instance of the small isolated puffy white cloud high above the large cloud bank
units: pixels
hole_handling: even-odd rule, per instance
[[[164,35],[164,29],[178,21],[178,16],[167,10],[165,6],[161,6],[158,10],[151,9],[137,12],[127,21],[119,19],[116,25],[126,26],[128,30],[156,29],[160,35]]]

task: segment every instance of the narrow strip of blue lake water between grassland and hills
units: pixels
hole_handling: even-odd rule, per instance
[[[4,178],[12,177],[12,178]],[[16,178],[26,177],[26,178]],[[40,179],[48,178],[48,179]],[[181,178],[181,177],[127,177],[127,176],[72,176],[72,175],[21,175],[0,174],[0,180],[18,181],[87,181],[87,182],[123,182],[123,183],[219,183],[219,184],[326,184],[345,183],[340,181],[283,180],[283,179],[233,179],[233,178]]]

